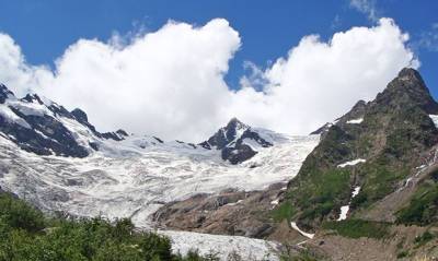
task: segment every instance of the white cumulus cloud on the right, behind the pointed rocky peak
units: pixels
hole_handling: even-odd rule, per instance
[[[287,133],[308,133],[342,116],[359,99],[371,99],[403,67],[418,67],[390,19],[374,27],[336,33],[328,43],[310,35],[267,68],[262,92],[234,94],[238,118]]]

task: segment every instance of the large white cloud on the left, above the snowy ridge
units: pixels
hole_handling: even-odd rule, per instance
[[[204,138],[224,121],[221,106],[230,93],[223,74],[240,47],[226,20],[201,27],[171,21],[128,45],[118,36],[110,43],[80,39],[56,61],[55,75],[41,79],[47,70],[26,66],[16,45],[3,38],[11,50],[0,55],[9,61],[0,81],[14,91],[32,86],[70,109],[80,107],[99,129],[185,140]]]

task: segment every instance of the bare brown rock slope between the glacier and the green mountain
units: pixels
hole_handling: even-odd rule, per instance
[[[284,183],[264,191],[198,194],[165,204],[153,220],[168,229],[265,238],[276,228],[269,211],[281,187]]]

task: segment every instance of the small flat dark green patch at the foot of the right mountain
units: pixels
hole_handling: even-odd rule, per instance
[[[384,238],[390,235],[390,224],[362,220],[345,220],[341,222],[326,222],[323,229],[335,230],[339,236],[349,238],[369,237]]]

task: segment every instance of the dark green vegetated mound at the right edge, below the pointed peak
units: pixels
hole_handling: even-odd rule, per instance
[[[438,183],[424,183],[410,204],[396,213],[396,222],[406,225],[428,225],[438,222]]]

